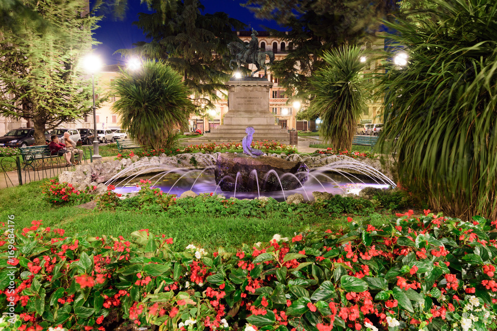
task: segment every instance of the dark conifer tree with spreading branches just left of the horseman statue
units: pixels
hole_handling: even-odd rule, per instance
[[[231,75],[228,44],[237,41],[233,30],[245,24],[224,12],[202,14],[204,7],[198,0],[177,1],[164,6],[152,0],[155,13],[140,13],[136,24],[152,41],[137,43],[130,50],[118,50],[124,56],[140,55],[149,59],[163,59],[180,72],[186,86],[195,94],[197,107],[213,107],[216,92],[225,88]],[[165,18],[165,19],[164,19]]]

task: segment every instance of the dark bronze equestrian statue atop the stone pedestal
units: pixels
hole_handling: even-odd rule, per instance
[[[259,39],[257,38],[257,31],[254,29],[252,29],[251,37],[252,39],[248,44],[237,41],[228,44],[231,55],[235,57],[235,59],[230,61],[230,68],[233,69],[233,63],[238,64],[238,70],[240,70],[241,65],[254,64],[257,70],[253,71],[250,76],[253,77],[254,73],[261,68],[264,69],[265,76],[267,73],[266,54],[269,56],[269,65],[272,65],[274,62],[274,53],[271,51],[259,51]]]

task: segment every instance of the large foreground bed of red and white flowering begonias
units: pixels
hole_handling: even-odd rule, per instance
[[[0,308],[18,318],[2,322],[19,331],[126,323],[171,331],[488,330],[497,243],[486,234],[490,223],[473,219],[409,211],[375,228],[349,218],[348,228],[275,235],[236,254],[176,247],[149,229],[126,240],[65,237],[41,221],[22,231],[4,225]]]

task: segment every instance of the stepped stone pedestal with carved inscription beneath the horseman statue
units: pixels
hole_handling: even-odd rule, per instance
[[[232,78],[228,87],[228,112],[223,125],[205,133],[211,141],[241,141],[247,135],[248,126],[254,128],[252,141],[275,140],[288,144],[288,130],[275,125],[274,115],[269,112],[269,89],[273,85],[266,78]]]

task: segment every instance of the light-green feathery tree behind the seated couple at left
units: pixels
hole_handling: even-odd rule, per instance
[[[5,7],[2,7],[5,8]],[[0,21],[0,114],[31,119],[36,144],[46,130],[89,111],[89,84],[78,61],[94,41],[98,18],[85,0],[26,0]],[[36,20],[29,14],[36,12]]]

